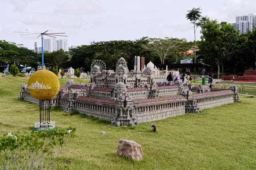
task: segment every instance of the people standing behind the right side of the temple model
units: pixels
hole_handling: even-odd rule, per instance
[[[209,78],[208,78],[208,84],[209,84],[209,87],[212,88],[212,74],[211,73],[208,73],[209,75]],[[178,71],[175,72],[175,79],[174,81],[176,82],[177,80],[181,80],[182,83],[191,83],[191,76],[190,76],[190,73],[187,72],[187,75],[185,73],[182,74],[181,78],[180,78],[180,73]],[[173,81],[173,78],[172,78],[172,73],[170,72],[170,74],[167,76],[167,81],[170,82],[170,81]]]

